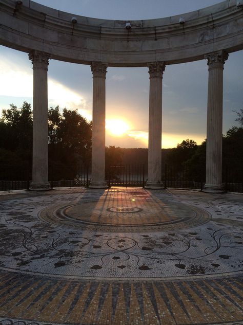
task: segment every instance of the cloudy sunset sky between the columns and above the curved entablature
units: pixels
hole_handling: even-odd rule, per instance
[[[38,0],[43,5],[104,19],[151,19],[204,8],[217,0]],[[106,146],[148,146],[148,68],[108,67],[106,79]],[[237,125],[233,110],[243,108],[243,51],[230,53],[224,70],[223,133]],[[32,64],[23,52],[0,46],[0,108],[32,104]],[[163,148],[186,138],[198,144],[206,138],[208,66],[206,60],[168,65],[163,78]],[[90,66],[50,60],[49,107],[78,109],[92,119]],[[115,121],[114,121],[115,120]],[[120,128],[114,124],[122,120]],[[113,122],[112,122],[113,121]]]

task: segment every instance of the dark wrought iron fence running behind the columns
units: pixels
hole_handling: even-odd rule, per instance
[[[234,173],[233,173],[234,172]],[[0,191],[29,189],[32,179],[29,166],[0,166]],[[49,183],[55,187],[88,187],[91,178],[91,169],[85,165],[49,166]],[[202,190],[205,184],[205,175],[198,171],[196,179],[190,170],[178,170],[165,165],[161,178],[165,188],[198,189]],[[229,168],[223,172],[223,184],[226,192],[243,193],[243,170],[237,173]],[[200,179],[200,181],[199,181]],[[147,170],[144,164],[107,166],[107,185],[111,186],[139,186],[144,187],[147,181]]]

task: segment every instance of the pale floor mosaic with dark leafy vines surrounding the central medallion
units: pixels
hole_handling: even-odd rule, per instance
[[[109,190],[107,200],[133,200],[150,192]],[[200,193],[161,192],[163,204],[184,204],[212,215],[187,229],[149,232],[106,232],[64,228],[38,219],[40,211],[80,200],[104,200],[98,191],[18,198],[1,203],[2,269],[24,273],[87,278],[167,278],[218,275],[242,269],[241,201],[224,202]],[[186,200],[185,200],[186,198]],[[242,200],[242,199],[241,199]],[[189,205],[190,204],[190,205]],[[80,205],[82,207],[82,204]],[[108,208],[109,209],[109,208]],[[233,212],[233,213],[232,213]],[[119,212],[122,213],[122,212]],[[134,212],[137,213],[137,212]],[[141,211],[140,213],[143,213]],[[129,211],[127,214],[131,215]],[[134,227],[131,222],[131,227]],[[190,226],[190,225],[189,225]],[[102,227],[102,226],[101,226]],[[106,229],[105,229],[106,230]],[[123,229],[124,230],[124,229]],[[143,231],[144,230],[144,231]]]

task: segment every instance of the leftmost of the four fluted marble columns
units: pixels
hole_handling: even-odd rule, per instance
[[[30,190],[50,190],[48,183],[48,95],[47,71],[49,55],[29,53],[33,64],[33,165]]]

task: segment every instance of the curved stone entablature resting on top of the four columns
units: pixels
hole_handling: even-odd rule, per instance
[[[52,59],[109,66],[147,66],[204,59],[206,53],[243,49],[243,10],[236,0],[154,20],[101,20],[76,16],[24,0],[0,0],[0,44],[50,53]],[[179,24],[183,16],[185,24]]]

